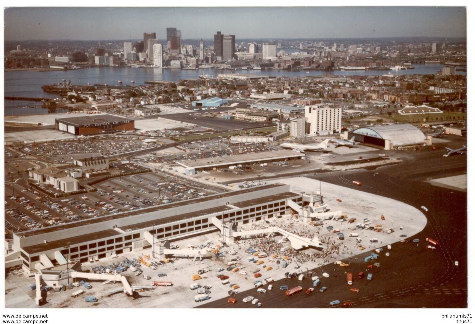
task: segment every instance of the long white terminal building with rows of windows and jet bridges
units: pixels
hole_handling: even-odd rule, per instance
[[[13,250],[19,251],[23,271],[30,274],[57,264],[61,255],[74,263],[142,250],[150,246],[146,231],[158,243],[217,231],[222,222],[270,219],[289,213],[290,200],[301,205],[302,195],[282,183],[218,193],[15,233]]]

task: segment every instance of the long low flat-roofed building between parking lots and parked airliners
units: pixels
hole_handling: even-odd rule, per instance
[[[227,168],[231,165],[236,164],[247,165],[261,162],[276,162],[291,159],[301,159],[302,156],[305,156],[305,154],[301,152],[276,150],[259,153],[218,156],[197,160],[180,160],[176,162],[183,166],[185,169],[188,168],[194,169],[195,171],[203,171],[212,170],[213,168]]]

